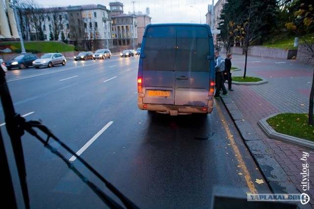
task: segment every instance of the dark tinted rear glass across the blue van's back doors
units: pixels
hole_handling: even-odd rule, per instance
[[[207,28],[149,27],[143,53],[143,70],[209,71]]]

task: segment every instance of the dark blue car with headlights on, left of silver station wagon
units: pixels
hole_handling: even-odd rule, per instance
[[[23,69],[33,66],[33,61],[36,59],[38,59],[38,57],[35,54],[20,54],[12,60],[4,62],[4,65],[8,70],[14,68]]]

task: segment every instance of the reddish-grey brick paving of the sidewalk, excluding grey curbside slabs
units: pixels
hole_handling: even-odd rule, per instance
[[[234,71],[232,76],[243,76],[244,62],[244,55],[233,55],[232,66],[241,70]],[[308,113],[313,69],[310,65],[295,60],[248,57],[246,76],[260,77],[268,83],[233,85],[234,91],[229,91],[229,96],[297,187],[299,192],[296,193],[304,193],[301,173],[305,162],[300,159],[303,152],[309,153],[307,163],[310,169],[310,189],[305,193],[309,194],[310,204],[314,208],[314,150],[268,139],[258,125],[259,120],[277,113]]]

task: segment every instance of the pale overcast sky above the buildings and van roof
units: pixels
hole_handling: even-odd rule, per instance
[[[205,15],[212,3],[212,0],[34,0],[43,7],[102,4],[107,9],[110,9],[109,2],[116,1],[123,3],[126,14],[133,10],[145,14],[149,7],[152,23],[206,23]]]

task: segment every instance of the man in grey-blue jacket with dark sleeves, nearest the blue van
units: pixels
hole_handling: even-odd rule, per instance
[[[219,55],[219,51],[215,51],[216,65],[215,65],[215,85],[216,92],[214,94],[215,98],[219,98],[220,89],[222,89],[223,95],[228,95],[228,92],[224,85],[224,75],[225,70],[225,60]]]

